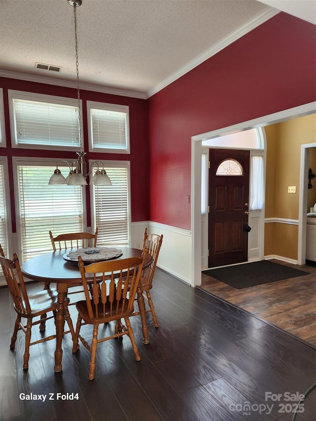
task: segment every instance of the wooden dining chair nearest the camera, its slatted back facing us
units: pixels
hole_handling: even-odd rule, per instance
[[[147,249],[145,248],[142,257],[140,258],[131,257],[122,260],[97,262],[88,266],[83,266],[81,256],[78,258],[85,301],[79,301],[76,304],[78,309],[78,321],[73,352],[77,351],[78,341],[80,339],[82,344],[91,353],[89,380],[94,379],[95,357],[97,345],[100,342],[127,335],[132,343],[136,361],[140,360],[129,316],[134,311],[134,299],[146,253]],[[85,277],[86,273],[93,273],[92,299],[89,295]],[[125,325],[123,325],[121,319],[125,320]],[[112,321],[116,322],[114,329],[115,333],[98,339],[99,325]],[[80,336],[82,324],[93,325],[91,346],[89,346],[85,339]]]

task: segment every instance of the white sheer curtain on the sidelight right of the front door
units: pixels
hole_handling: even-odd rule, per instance
[[[264,203],[263,156],[251,157],[250,210],[260,210]]]

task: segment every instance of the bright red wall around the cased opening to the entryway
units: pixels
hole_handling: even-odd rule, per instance
[[[279,13],[149,99],[150,220],[191,229],[191,137],[316,99],[316,27]]]

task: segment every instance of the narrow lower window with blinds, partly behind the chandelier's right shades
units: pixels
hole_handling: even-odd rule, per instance
[[[103,162],[112,186],[93,186],[94,228],[98,245],[128,246],[130,227],[129,162]]]

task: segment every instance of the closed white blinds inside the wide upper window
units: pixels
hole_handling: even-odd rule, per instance
[[[13,98],[17,144],[79,147],[78,108]]]

